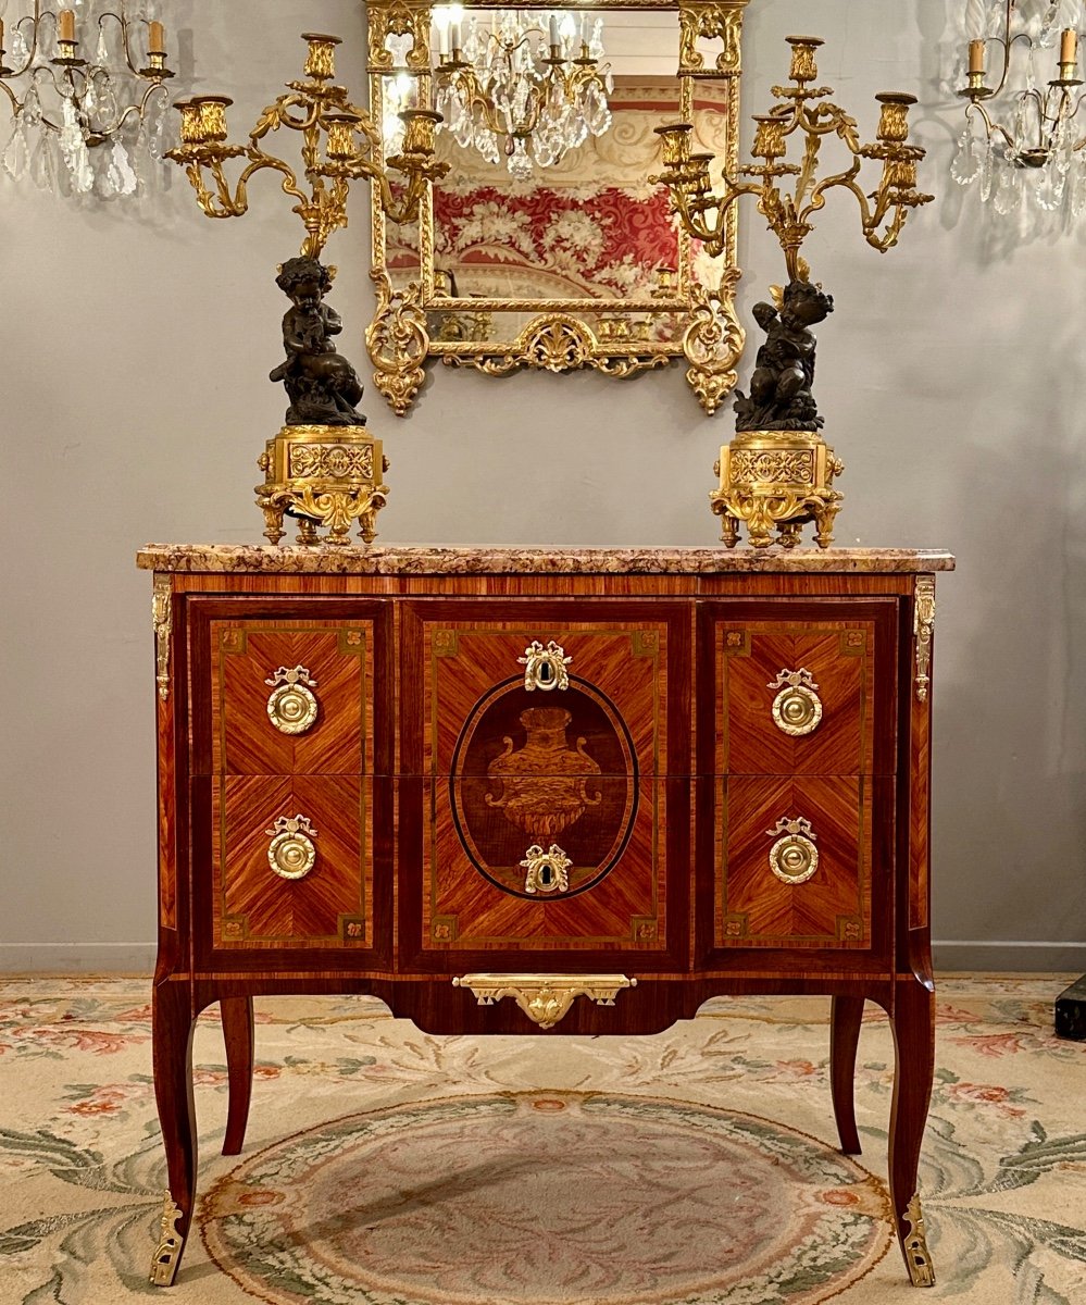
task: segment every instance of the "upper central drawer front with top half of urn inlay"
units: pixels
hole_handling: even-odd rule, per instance
[[[689,773],[689,608],[411,603],[403,774]]]

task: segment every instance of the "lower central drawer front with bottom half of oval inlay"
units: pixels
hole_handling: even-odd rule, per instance
[[[399,932],[412,964],[470,968],[475,955],[484,967],[607,970],[621,957],[655,970],[685,958],[689,783],[602,776],[587,809],[566,808],[544,833],[538,813],[557,809],[563,783],[538,776],[513,810],[474,779],[399,780]]]

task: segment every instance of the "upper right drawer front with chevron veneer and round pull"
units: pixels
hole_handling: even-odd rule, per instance
[[[897,600],[709,604],[698,697],[722,775],[894,770]],[[706,748],[707,752],[707,748]]]

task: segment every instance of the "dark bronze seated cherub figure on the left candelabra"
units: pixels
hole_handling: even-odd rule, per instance
[[[283,317],[286,361],[270,373],[270,380],[286,385],[286,424],[365,425],[355,407],[362,399],[362,381],[332,341],[343,330],[339,315],[324,303],[332,273],[316,258],[290,258],[275,284],[292,304]]]

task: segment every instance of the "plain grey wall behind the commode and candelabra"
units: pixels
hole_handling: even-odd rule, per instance
[[[838,311],[817,392],[847,463],[841,544],[946,547],[935,753],[935,932],[944,964],[1086,968],[1083,234],[1008,239],[948,175],[944,0],[753,0],[745,110],[784,72],[781,38],[828,38],[822,80],[869,136],[872,95],[915,89],[939,201],[885,258],[839,196],[809,241]],[[354,0],[179,0],[198,89],[235,129],[296,74],[296,34],[349,38]],[[147,540],[260,538],[256,454],[282,399],[274,264],[298,241],[274,180],[210,223],[180,175],[134,215],[0,184],[4,582],[0,967],[131,968],[154,937]],[[367,197],[329,249],[363,359]],[[745,213],[741,301],[781,277]],[[726,420],[680,371],[504,381],[432,376],[409,420],[380,397],[392,457],[384,542],[710,544]],[[550,450],[547,459],[539,448]],[[531,450],[531,452],[530,452]],[[663,459],[662,455],[663,454]],[[662,480],[660,465],[667,467]]]

